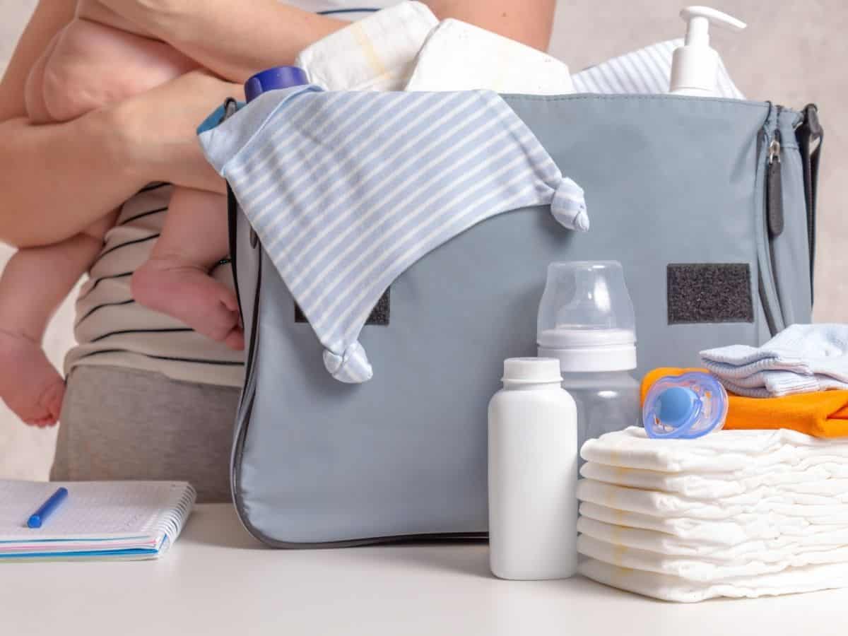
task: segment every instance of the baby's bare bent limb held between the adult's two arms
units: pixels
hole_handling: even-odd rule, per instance
[[[67,121],[197,68],[175,48],[85,18],[54,37],[26,86],[31,119]]]

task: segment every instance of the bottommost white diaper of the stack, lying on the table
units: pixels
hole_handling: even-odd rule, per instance
[[[613,566],[588,559],[578,566],[584,577],[614,588],[626,589],[655,599],[695,603],[719,596],[756,598],[777,594],[815,592],[848,586],[848,564],[793,567],[775,574],[736,577],[718,582],[700,583],[685,578]]]

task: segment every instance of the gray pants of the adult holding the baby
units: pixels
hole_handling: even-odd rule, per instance
[[[229,501],[237,388],[159,373],[78,366],[68,378],[54,481],[182,480]]]

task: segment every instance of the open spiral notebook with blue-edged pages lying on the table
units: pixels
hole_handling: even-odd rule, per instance
[[[40,528],[30,515],[68,497]],[[186,482],[0,481],[0,561],[156,559],[180,536],[196,494]]]

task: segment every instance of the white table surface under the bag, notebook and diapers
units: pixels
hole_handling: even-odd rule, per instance
[[[848,590],[677,605],[582,577],[500,581],[485,544],[269,550],[199,505],[160,561],[0,565],[0,634],[848,633]]]

